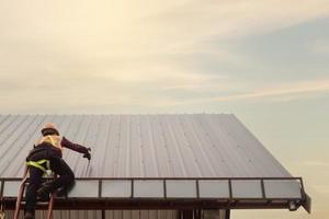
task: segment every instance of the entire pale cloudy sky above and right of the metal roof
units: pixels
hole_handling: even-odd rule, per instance
[[[329,215],[329,0],[0,0],[1,114],[234,113]]]

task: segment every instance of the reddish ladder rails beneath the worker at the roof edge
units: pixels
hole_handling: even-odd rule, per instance
[[[19,219],[19,216],[20,216],[21,203],[22,203],[24,191],[25,191],[26,182],[27,182],[27,178],[29,178],[27,173],[29,173],[29,168],[25,166],[24,174],[23,174],[23,180],[22,180],[22,183],[21,183],[20,188],[19,188],[19,195],[18,195],[15,211],[14,211],[14,219]],[[54,177],[56,177],[56,175]],[[49,203],[48,203],[47,219],[53,219],[54,195],[55,195],[54,193],[50,195],[50,199],[49,199]]]

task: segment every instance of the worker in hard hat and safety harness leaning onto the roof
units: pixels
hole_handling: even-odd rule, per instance
[[[63,160],[63,148],[83,153],[83,158],[91,159],[90,148],[72,143],[61,137],[53,123],[47,123],[42,129],[42,137],[35,142],[34,149],[26,158],[30,172],[30,184],[26,188],[25,219],[34,219],[37,199],[48,199],[49,194],[56,189],[68,191],[75,184],[75,174]],[[52,171],[57,178],[42,183],[45,172]]]

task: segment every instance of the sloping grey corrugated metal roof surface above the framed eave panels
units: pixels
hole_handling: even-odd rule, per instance
[[[0,177],[21,177],[44,123],[92,148],[65,150],[79,177],[288,177],[231,114],[0,115]]]

